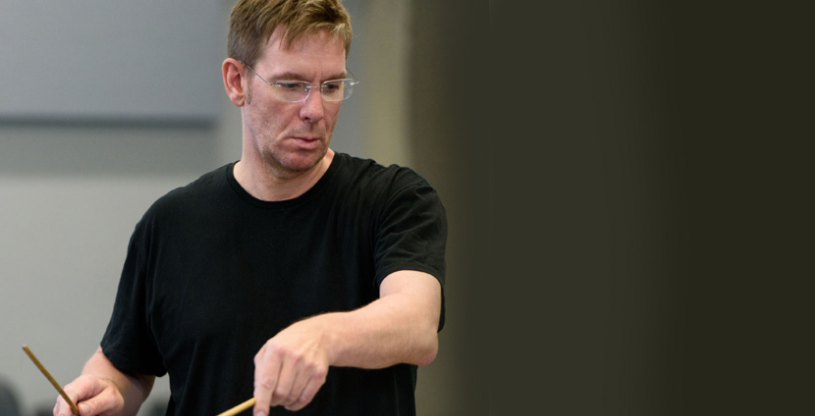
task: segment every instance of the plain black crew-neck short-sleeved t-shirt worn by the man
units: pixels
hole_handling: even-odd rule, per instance
[[[269,338],[369,304],[395,271],[444,287],[445,210],[413,170],[337,153],[312,189],[269,202],[241,188],[233,167],[169,192],[141,218],[101,341],[125,372],[169,373],[169,415],[218,414],[251,398],[254,354]],[[444,314],[443,302],[439,331]],[[414,415],[416,371],[331,367],[296,413]]]

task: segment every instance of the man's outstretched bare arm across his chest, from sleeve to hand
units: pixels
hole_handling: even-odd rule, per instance
[[[427,273],[402,270],[379,286],[379,299],[351,312],[320,314],[292,324],[254,357],[254,415],[269,406],[296,411],[320,390],[328,367],[427,365],[438,351],[441,285]]]

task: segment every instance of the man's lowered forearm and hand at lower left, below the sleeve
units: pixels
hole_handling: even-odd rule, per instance
[[[155,376],[120,372],[101,347],[82,369],[82,375],[65,386],[68,397],[76,403],[82,416],[135,416],[141,403],[153,388]],[[54,416],[71,416],[71,407],[57,398]]]

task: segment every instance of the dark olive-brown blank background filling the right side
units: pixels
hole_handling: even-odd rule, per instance
[[[418,168],[478,282],[461,414],[811,412],[808,14],[525,3],[418,12],[449,22]]]

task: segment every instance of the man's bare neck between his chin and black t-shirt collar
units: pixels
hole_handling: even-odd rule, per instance
[[[263,161],[242,158],[235,163],[235,180],[249,195],[264,201],[282,201],[301,196],[322,178],[334,159],[334,150],[326,151],[325,156],[312,169],[301,175],[280,175],[264,166]]]

